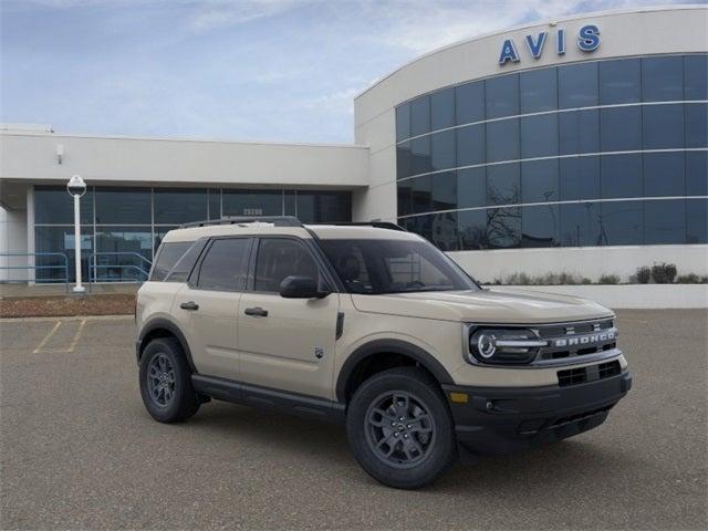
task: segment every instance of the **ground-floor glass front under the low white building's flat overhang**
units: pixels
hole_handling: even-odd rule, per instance
[[[35,252],[73,257],[73,200],[63,187],[34,187]],[[168,230],[225,216],[298,216],[304,222],[352,219],[350,191],[228,188],[88,187],[81,199],[82,275],[104,282],[145,280]],[[61,257],[38,257],[61,266]],[[74,263],[69,260],[70,279]],[[60,281],[62,269],[38,269],[38,281]]]

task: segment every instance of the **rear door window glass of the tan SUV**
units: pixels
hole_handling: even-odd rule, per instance
[[[201,261],[197,288],[219,291],[243,290],[250,247],[251,240],[248,238],[215,240]]]

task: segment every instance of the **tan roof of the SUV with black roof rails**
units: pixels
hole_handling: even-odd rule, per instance
[[[342,225],[305,225],[303,227],[275,227],[273,223],[253,222],[235,225],[211,225],[206,227],[188,227],[170,230],[164,242],[195,241],[204,237],[215,236],[296,236],[312,239],[312,233],[323,240],[358,239],[358,240],[419,240],[413,232],[381,229],[366,226]]]

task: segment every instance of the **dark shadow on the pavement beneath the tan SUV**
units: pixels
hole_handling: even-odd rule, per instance
[[[343,426],[214,402],[204,406],[188,424],[194,429],[208,429],[212,435],[238,438],[241,444],[264,449],[284,460],[315,460],[317,468],[357,467]],[[636,458],[620,447],[582,437],[509,456],[482,457],[473,465],[458,461],[425,490],[483,494],[489,489],[517,492],[520,488],[548,489],[549,478],[553,478],[554,485],[573,483],[587,478],[589,470],[602,473],[621,465],[626,467],[627,461],[633,460]],[[385,488],[363,471],[353,478]]]

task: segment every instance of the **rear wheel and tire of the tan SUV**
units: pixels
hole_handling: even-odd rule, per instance
[[[150,416],[160,423],[181,423],[199,409],[191,369],[179,342],[150,341],[140,356],[140,395]]]

